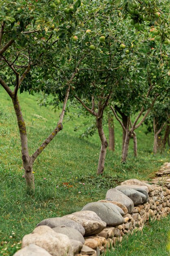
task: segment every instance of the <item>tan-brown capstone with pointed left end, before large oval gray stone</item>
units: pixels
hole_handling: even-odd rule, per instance
[[[81,224],[85,229],[85,236],[95,235],[106,227],[106,222],[94,211],[77,211],[62,218],[68,218]]]

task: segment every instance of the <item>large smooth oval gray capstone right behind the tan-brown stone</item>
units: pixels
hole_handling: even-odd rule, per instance
[[[86,204],[82,211],[94,211],[107,226],[117,226],[124,223],[124,211],[111,203],[92,202]]]

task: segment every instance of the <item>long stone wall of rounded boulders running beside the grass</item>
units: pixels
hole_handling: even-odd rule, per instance
[[[106,198],[86,204],[82,211],[40,222],[22,239],[15,256],[101,255],[124,236],[142,231],[149,219],[170,212],[170,163],[148,182],[127,180],[108,190]]]

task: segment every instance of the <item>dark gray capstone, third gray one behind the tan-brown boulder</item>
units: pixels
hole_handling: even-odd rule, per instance
[[[146,195],[135,189],[119,187],[118,190],[127,195],[133,201],[134,205],[143,204],[146,201]]]

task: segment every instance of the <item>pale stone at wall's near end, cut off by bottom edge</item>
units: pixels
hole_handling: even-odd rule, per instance
[[[38,245],[30,244],[20,249],[13,256],[51,256],[51,254]]]

